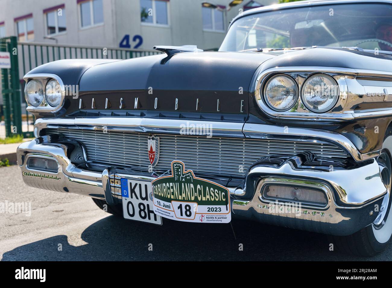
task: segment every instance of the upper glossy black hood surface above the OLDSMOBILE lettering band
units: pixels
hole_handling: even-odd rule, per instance
[[[183,52],[133,58],[88,69],[80,91],[201,90],[247,91],[256,69],[268,54]],[[164,61],[162,61],[164,60]]]

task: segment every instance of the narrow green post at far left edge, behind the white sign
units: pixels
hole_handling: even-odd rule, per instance
[[[0,51],[7,52],[7,39],[0,39]],[[1,82],[2,82],[2,94],[3,94],[3,111],[4,111],[4,122],[5,122],[5,137],[11,135],[11,107],[9,99],[9,71],[8,69],[1,69]]]

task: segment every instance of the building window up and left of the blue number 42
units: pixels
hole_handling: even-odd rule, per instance
[[[103,23],[102,0],[78,0],[80,3],[80,25],[89,27]]]

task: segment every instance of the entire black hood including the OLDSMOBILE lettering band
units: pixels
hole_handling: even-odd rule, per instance
[[[73,103],[68,112],[244,122],[252,77],[261,63],[273,57],[183,52],[96,65],[80,79],[83,108]]]

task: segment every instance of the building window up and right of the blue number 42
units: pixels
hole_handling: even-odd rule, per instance
[[[167,0],[140,0],[140,19],[144,23],[169,25]]]

